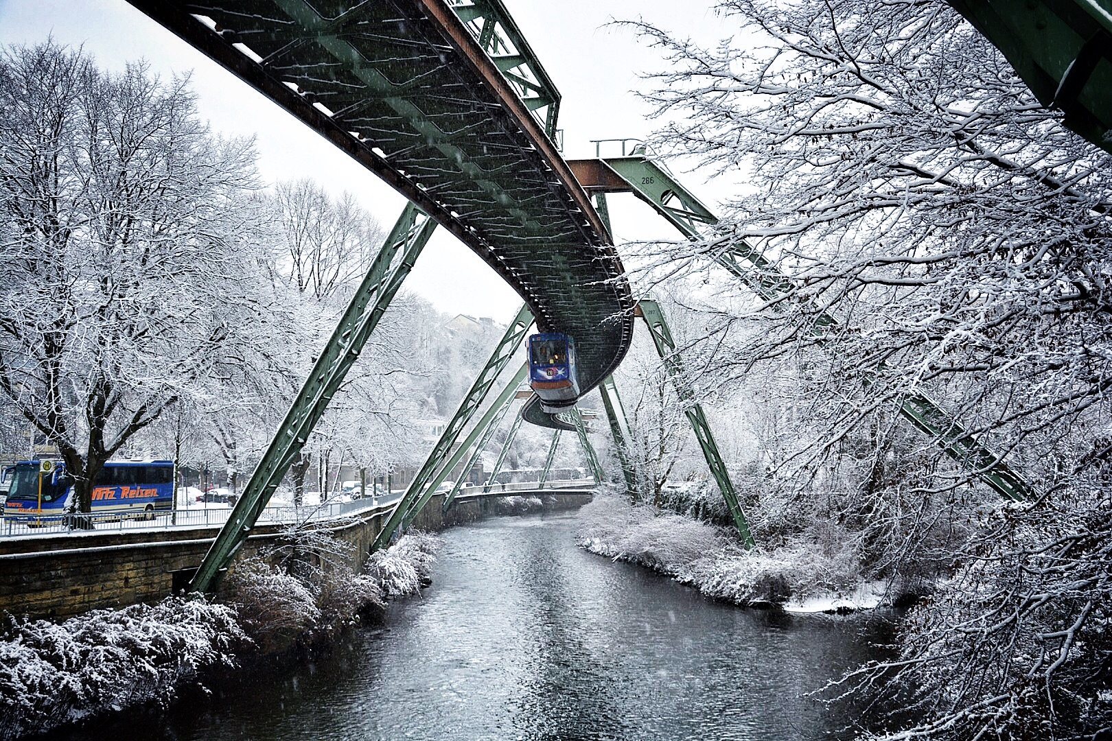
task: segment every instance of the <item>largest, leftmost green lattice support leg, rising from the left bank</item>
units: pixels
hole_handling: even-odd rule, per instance
[[[216,588],[435,229],[435,221],[413,203],[406,204],[197,569],[190,590],[209,592]]]

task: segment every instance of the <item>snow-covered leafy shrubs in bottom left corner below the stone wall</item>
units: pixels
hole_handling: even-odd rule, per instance
[[[0,640],[0,739],[165,701],[247,640],[232,609],[202,597],[16,623]]]

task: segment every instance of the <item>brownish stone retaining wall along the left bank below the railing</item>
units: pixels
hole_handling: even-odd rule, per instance
[[[436,495],[414,527],[443,530],[497,511],[495,497],[457,502],[440,511]],[[590,494],[545,494],[545,509],[574,509]],[[361,565],[390,508],[370,510],[355,522],[329,528],[356,547]],[[237,558],[274,542],[279,525],[256,528]],[[188,582],[211,545],[215,528],[162,532],[80,533],[0,539],[0,611],[27,618],[64,618],[97,608],[158,601]],[[176,583],[177,582],[177,583]]]

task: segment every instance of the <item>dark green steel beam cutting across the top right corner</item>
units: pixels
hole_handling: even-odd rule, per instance
[[[949,0],[1003,52],[1039,102],[1112,152],[1110,0]]]

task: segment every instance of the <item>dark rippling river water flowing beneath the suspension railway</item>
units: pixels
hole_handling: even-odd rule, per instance
[[[575,547],[576,515],[451,529],[420,598],[327,657],[70,739],[848,739],[802,697],[877,655],[863,618],[712,602]],[[880,631],[880,632],[877,632]]]

